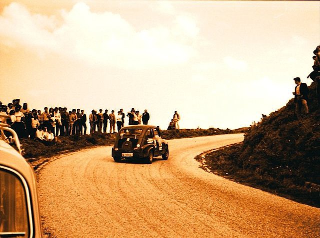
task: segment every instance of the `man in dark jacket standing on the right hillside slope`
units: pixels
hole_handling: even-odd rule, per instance
[[[294,92],[292,92],[294,95],[295,114],[297,119],[300,119],[301,116],[309,113],[307,105],[309,89],[305,83],[301,83],[299,77],[293,78],[293,80],[296,84]]]

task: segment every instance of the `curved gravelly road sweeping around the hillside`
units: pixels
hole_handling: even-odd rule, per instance
[[[61,156],[39,173],[44,226],[72,237],[320,237],[320,209],[198,168],[242,134],[169,141],[167,161],[114,163],[111,147]]]

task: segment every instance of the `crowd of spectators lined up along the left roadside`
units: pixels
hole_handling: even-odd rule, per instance
[[[0,102],[1,122],[9,125],[17,134],[18,138],[38,139],[45,144],[54,142],[56,136],[85,135],[86,134],[86,114],[84,110],[66,107],[44,107],[44,111],[28,108],[27,103],[20,105],[20,99],[13,99],[7,105]],[[147,110],[143,114],[135,111],[134,108],[128,112],[129,125],[147,124],[150,118]],[[124,125],[125,114],[123,109],[114,114],[114,110],[108,114],[105,109],[92,110],[89,114],[90,134],[93,133],[115,133],[115,125],[119,131]],[[109,126],[108,126],[109,124]]]

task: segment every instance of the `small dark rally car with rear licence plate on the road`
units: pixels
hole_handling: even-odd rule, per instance
[[[122,127],[118,132],[112,148],[115,162],[120,162],[123,158],[142,158],[151,164],[153,157],[157,156],[161,156],[163,160],[169,157],[168,143],[161,138],[159,127],[131,125]]]

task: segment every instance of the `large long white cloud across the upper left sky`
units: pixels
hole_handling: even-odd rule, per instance
[[[119,14],[95,13],[85,3],[51,17],[11,3],[0,16],[0,40],[7,46],[36,49],[39,55],[55,52],[96,66],[144,69],[182,64],[194,55],[185,42],[194,40],[195,23],[186,17],[175,23],[136,31]]]

